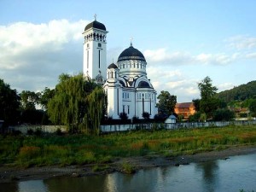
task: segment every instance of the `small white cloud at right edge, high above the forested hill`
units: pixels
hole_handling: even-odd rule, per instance
[[[256,48],[256,38],[237,35],[224,40],[224,42],[233,49],[254,49]]]

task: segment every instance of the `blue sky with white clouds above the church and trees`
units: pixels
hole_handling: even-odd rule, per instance
[[[96,15],[107,66],[132,38],[157,93],[191,102],[207,76],[218,92],[256,80],[255,9],[255,0],[0,0],[0,79],[41,91],[82,72],[82,32]]]

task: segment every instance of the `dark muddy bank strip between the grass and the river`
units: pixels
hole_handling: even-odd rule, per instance
[[[222,151],[212,151],[194,155],[183,155],[175,158],[165,158],[160,155],[151,154],[143,157],[130,157],[115,160],[106,165],[86,166],[44,166],[20,169],[17,167],[0,166],[0,183],[25,181],[32,179],[46,179],[50,177],[84,177],[90,175],[102,175],[110,172],[121,172],[121,165],[131,164],[137,169],[156,166],[179,166],[188,165],[192,162],[203,162],[207,160],[226,160],[234,155],[256,153],[256,146],[232,147]],[[98,169],[96,170],[96,166]]]

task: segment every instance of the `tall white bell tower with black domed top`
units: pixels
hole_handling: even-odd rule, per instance
[[[104,84],[107,75],[106,26],[95,20],[84,28],[84,76]]]

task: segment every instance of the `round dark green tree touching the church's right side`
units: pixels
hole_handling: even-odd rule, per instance
[[[157,98],[159,102],[156,106],[160,113],[170,115],[174,112],[177,96],[172,96],[168,91],[162,90]]]

